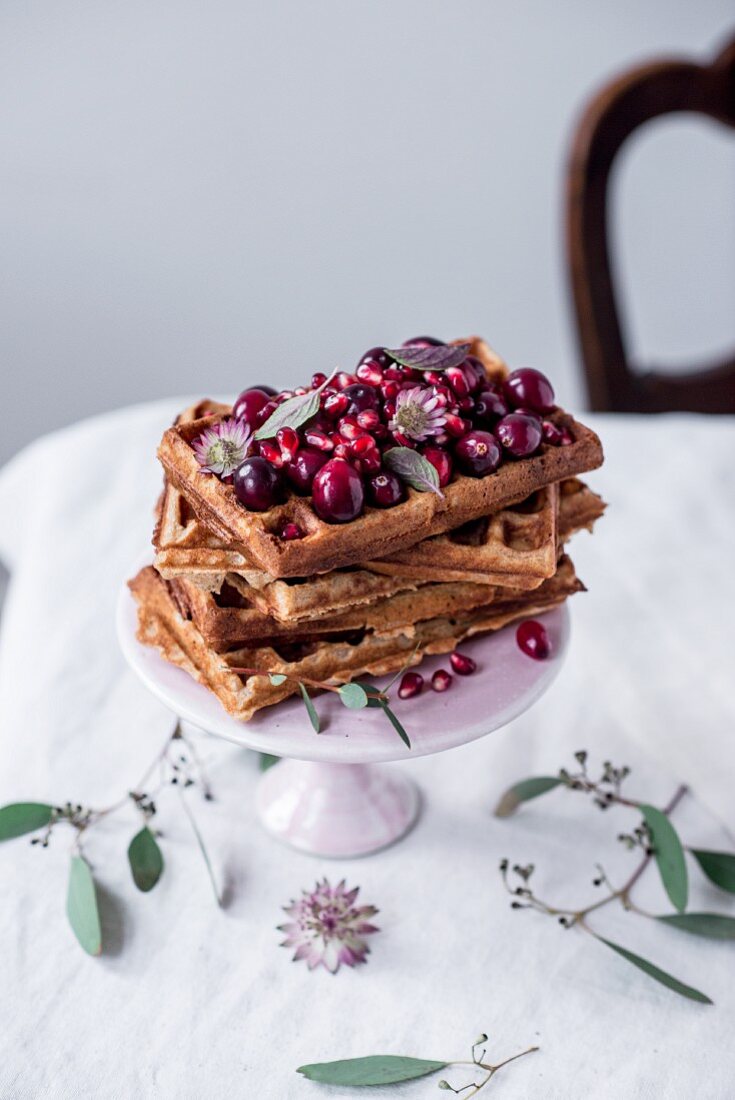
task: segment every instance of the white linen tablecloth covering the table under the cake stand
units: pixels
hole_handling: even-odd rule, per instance
[[[0,803],[124,793],[171,715],[127,671],[113,608],[150,540],[154,450],[185,399],[123,409],[46,437],[0,472],[0,557],[11,582],[0,641]],[[610,906],[595,928],[703,989],[682,1000],[591,937],[512,912],[498,859],[533,861],[539,893],[594,900],[601,859],[623,881],[637,858],[615,836],[636,823],[557,791],[515,818],[498,793],[571,763],[633,767],[634,795],[676,812],[684,839],[733,848],[735,429],[693,416],[589,417],[610,502],[572,553],[589,594],[572,601],[562,673],[528,714],[474,745],[406,767],[426,793],[416,829],[363,860],[311,859],[259,827],[257,760],[201,738],[216,801],[193,798],[229,903],[212,901],[173,791],[160,799],[166,871],[151,894],[129,879],[130,813],[89,836],[106,953],[83,954],[64,905],[69,834],[47,850],[0,847],[0,1097],[358,1096],[306,1081],[308,1062],[373,1053],[463,1058],[491,1035],[495,1060],[538,1044],[490,1088],[523,1100],[735,1096],[735,954]],[[461,684],[456,690],[461,690]],[[312,736],[305,727],[304,736]],[[380,908],[366,967],[310,974],[278,947],[279,906],[319,876],[344,876]],[[733,912],[692,867],[690,909]],[[655,869],[640,903],[670,911]],[[458,1075],[452,1080],[457,1082]],[[467,1078],[464,1078],[467,1080]],[[436,1078],[373,1090],[436,1094]],[[490,1094],[490,1093],[489,1093]]]

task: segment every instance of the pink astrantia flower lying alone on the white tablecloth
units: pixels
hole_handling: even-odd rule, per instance
[[[379,930],[370,923],[377,910],[374,905],[354,906],[360,887],[347,890],[344,880],[331,887],[327,879],[317,882],[311,891],[305,890],[298,901],[284,905],[284,913],[292,919],[278,925],[285,932],[282,947],[295,947],[294,963],[305,959],[309,970],[319,965],[337,974],[340,965],[356,966],[366,963],[370,947],[364,937]]]

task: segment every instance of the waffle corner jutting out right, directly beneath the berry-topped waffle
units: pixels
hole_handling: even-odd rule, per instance
[[[559,548],[575,531],[592,530],[604,509],[596,493],[579,479],[568,477],[494,516],[368,564],[395,578],[534,588],[553,574]],[[511,581],[508,573],[515,574]]]

